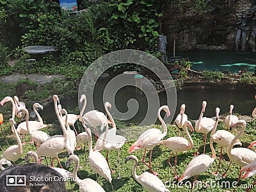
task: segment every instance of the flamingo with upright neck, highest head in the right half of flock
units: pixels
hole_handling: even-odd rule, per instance
[[[195,124],[195,131],[202,132],[204,134],[204,154],[205,154],[205,145],[206,145],[207,134],[214,127],[214,122],[215,122],[212,118],[203,117],[206,105],[207,105],[207,102],[204,100],[202,102],[202,111],[200,113],[200,117],[196,121],[196,124]],[[196,154],[198,153],[198,150],[200,149],[201,145],[196,150]]]

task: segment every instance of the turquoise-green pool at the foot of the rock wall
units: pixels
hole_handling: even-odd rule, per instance
[[[193,70],[217,70],[238,72],[247,68],[254,72],[256,52],[192,50],[177,52],[176,56],[188,58]]]

